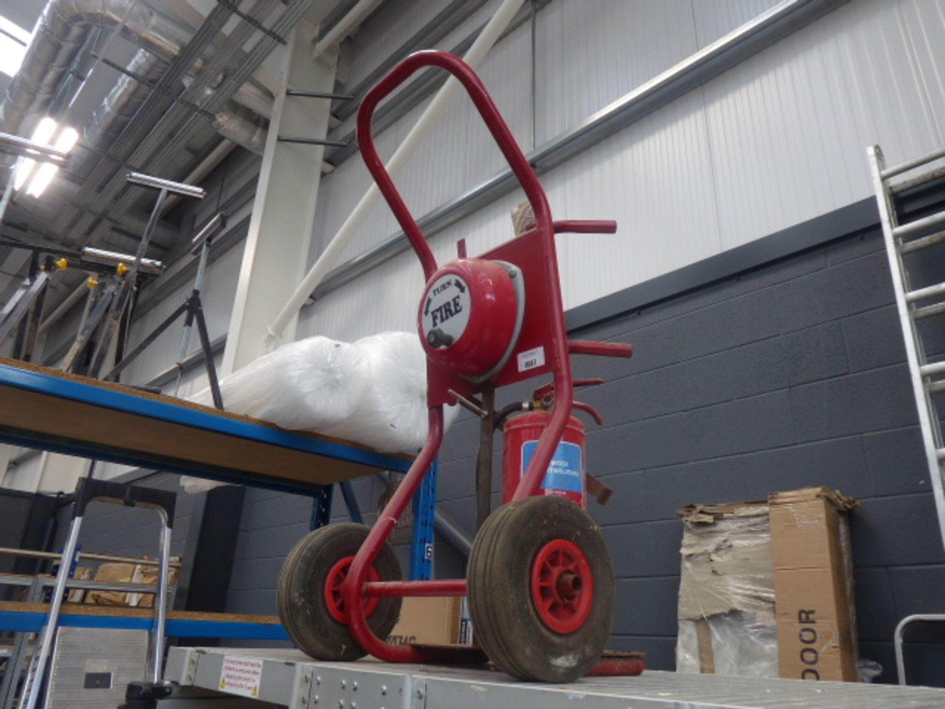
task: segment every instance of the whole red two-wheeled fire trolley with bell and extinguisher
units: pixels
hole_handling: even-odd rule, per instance
[[[481,256],[461,253],[442,267],[371,136],[378,103],[426,66],[445,69],[465,87],[522,184],[536,222],[530,231]],[[469,663],[483,661],[484,651],[493,665],[514,677],[554,683],[587,674],[642,671],[637,657],[602,659],[613,623],[613,571],[600,529],[582,509],[583,451],[574,437],[579,435],[577,442],[583,443],[583,426],[571,416],[573,408],[589,407],[574,402],[579,383],[572,379],[570,355],[628,357],[632,349],[568,339],[555,249],[555,233],[614,233],[616,223],[552,220],[541,183],[485,86],[452,54],[422,51],[404,60],[365,96],[357,134],[369,171],[417,252],[426,279],[418,328],[427,354],[429,433],[374,527],[322,527],[290,552],[279,579],[286,631],[320,660],[352,660],[369,653],[387,662]],[[536,392],[536,399],[543,392],[537,407],[545,410],[508,424],[513,433],[507,436],[513,435],[523,457],[519,452],[510,457],[507,451],[507,461],[512,460],[505,471],[507,504],[479,529],[467,579],[400,580],[387,539],[438,455],[443,406],[458,401],[475,409],[481,404],[476,396],[485,388],[544,374],[553,377]],[[531,436],[537,440],[528,441],[525,429],[540,434]],[[556,456],[559,443],[579,450]],[[548,486],[559,490],[543,494],[553,460],[563,482]],[[575,477],[576,487],[571,482]],[[401,599],[408,596],[467,596],[481,650],[385,642]]]

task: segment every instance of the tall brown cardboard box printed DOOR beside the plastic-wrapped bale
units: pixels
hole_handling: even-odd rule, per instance
[[[856,504],[827,488],[773,493],[771,546],[781,676],[856,682],[850,532]]]

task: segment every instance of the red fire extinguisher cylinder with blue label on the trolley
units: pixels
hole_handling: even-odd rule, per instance
[[[503,457],[502,502],[507,503],[515,494],[522,471],[528,469],[528,463],[538,447],[541,431],[545,429],[551,413],[532,411],[515,416],[503,427],[505,453]],[[584,492],[585,441],[584,424],[574,416],[568,419],[564,436],[558,442],[558,450],[548,466],[548,472],[541,481],[544,494],[556,495],[575,502],[582,509],[587,509],[587,495]]]

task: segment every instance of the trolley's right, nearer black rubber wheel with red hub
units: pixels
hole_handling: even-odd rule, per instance
[[[495,510],[472,544],[472,629],[492,664],[520,680],[573,682],[613,627],[604,537],[575,503],[528,497]]]

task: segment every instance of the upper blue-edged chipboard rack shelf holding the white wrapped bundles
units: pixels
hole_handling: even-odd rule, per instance
[[[5,358],[0,442],[309,493],[413,460]]]

